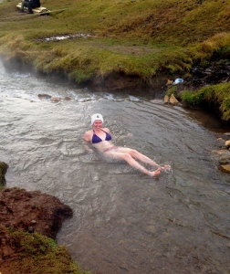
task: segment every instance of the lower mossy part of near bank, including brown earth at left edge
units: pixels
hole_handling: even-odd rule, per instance
[[[2,273],[89,274],[79,269],[67,248],[58,247],[52,238],[2,225],[0,235],[3,239],[0,256],[10,250],[1,264]]]

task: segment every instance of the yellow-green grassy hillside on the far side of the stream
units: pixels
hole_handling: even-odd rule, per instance
[[[50,16],[18,14],[17,3],[0,4],[0,54],[80,85],[117,74],[153,87],[230,57],[229,1],[44,0]]]

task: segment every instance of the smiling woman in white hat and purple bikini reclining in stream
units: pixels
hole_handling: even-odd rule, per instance
[[[169,165],[164,165],[163,167],[158,163],[155,163],[147,156],[139,153],[136,150],[127,147],[115,146],[111,142],[111,134],[108,128],[102,128],[103,117],[101,114],[96,113],[91,116],[91,125],[92,130],[84,134],[84,140],[86,142],[91,142],[93,146],[104,156],[110,157],[112,159],[124,160],[129,163],[133,168],[141,171],[143,174],[148,174],[150,176],[156,176],[161,174],[162,170],[169,170]],[[143,163],[151,164],[154,167],[157,167],[157,170],[152,172],[148,171],[136,160],[139,160]]]

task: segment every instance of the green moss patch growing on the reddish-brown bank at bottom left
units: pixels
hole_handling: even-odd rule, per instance
[[[37,233],[29,234],[8,228],[8,233],[20,250],[20,258],[12,261],[12,267],[20,273],[31,274],[89,274],[81,271],[65,247]]]

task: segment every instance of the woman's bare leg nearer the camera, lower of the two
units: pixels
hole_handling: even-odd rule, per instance
[[[108,152],[104,153],[105,156],[109,156],[113,159],[122,159],[129,163],[135,169],[138,169],[143,174],[148,174],[150,176],[156,176],[161,174],[161,167],[159,167],[155,172],[148,171],[145,167],[143,167],[140,163],[138,163],[135,159],[132,158],[130,153],[120,153],[120,152]]]

